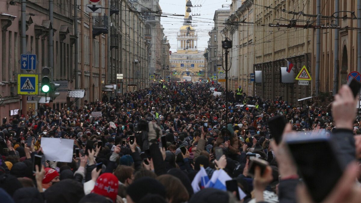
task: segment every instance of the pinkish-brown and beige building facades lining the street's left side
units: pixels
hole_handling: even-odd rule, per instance
[[[68,107],[67,90],[85,90],[84,100],[92,102],[101,100],[104,94],[114,95],[117,92],[134,91],[149,84],[149,42],[144,38],[144,18],[135,12],[127,0],[99,3],[105,8],[102,13],[85,12],[89,1],[78,1],[77,9],[78,33],[74,33],[74,5],[72,2],[54,2],[53,24],[48,15],[48,1],[27,1],[26,3],[26,50],[36,54],[37,69],[41,73],[42,66],[49,66],[48,33],[53,28],[53,80],[61,83],[60,96],[52,103],[53,108]],[[10,5],[9,1],[0,1],[1,14],[1,78],[0,78],[0,116],[10,117],[11,110],[38,108],[36,96],[27,97],[27,106],[21,104],[21,96],[17,95],[17,74],[20,73],[18,63],[21,55],[21,12],[20,3]],[[122,9],[121,9],[122,8]],[[108,13],[109,12],[109,13]],[[110,16],[105,18],[105,16]],[[109,22],[109,24],[106,24]],[[105,26],[105,25],[109,25]],[[75,42],[78,39],[78,50]],[[78,52],[78,61],[74,55]],[[75,72],[75,64],[78,72]],[[123,80],[116,74],[123,74]],[[39,77],[41,78],[41,77]],[[79,87],[75,87],[75,78]],[[104,85],[114,84],[116,90],[104,91]]]

